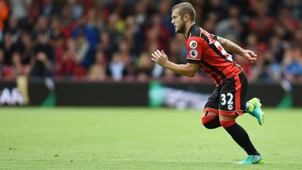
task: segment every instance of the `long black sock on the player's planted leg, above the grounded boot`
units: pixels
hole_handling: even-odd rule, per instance
[[[258,151],[254,148],[252,142],[245,130],[237,123],[225,128],[227,133],[233,138],[233,140],[244,149],[247,155],[259,155]]]

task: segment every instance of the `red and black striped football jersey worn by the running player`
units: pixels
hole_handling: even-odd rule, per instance
[[[194,24],[185,38],[187,62],[199,64],[219,86],[223,80],[242,72],[241,67],[232,60],[232,56],[217,41],[217,36],[208,33]]]

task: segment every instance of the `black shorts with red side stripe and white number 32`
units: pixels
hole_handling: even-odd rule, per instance
[[[215,88],[205,105],[204,112],[222,115],[242,115],[245,108],[247,78],[244,72],[225,79]]]

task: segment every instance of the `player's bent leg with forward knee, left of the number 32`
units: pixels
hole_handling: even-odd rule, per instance
[[[216,87],[205,105],[205,109],[201,118],[201,122],[206,128],[215,129],[221,126],[218,117],[218,107],[219,88]]]

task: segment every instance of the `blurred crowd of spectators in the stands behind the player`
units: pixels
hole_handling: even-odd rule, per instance
[[[249,81],[302,83],[302,0],[0,0],[0,79],[18,75],[91,81],[211,81],[151,61],[164,50],[186,63],[173,5],[188,1],[203,29],[258,55],[233,55]]]

